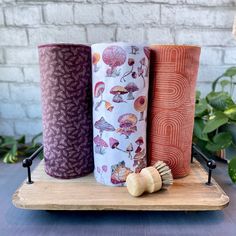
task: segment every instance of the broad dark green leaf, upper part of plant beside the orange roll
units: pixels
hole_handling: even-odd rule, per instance
[[[234,105],[232,98],[226,92],[210,92],[206,98],[213,108],[220,111],[224,111]]]

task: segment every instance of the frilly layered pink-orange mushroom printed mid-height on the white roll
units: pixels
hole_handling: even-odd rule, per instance
[[[120,116],[118,122],[120,127],[116,129],[116,132],[125,135],[127,139],[132,133],[137,131],[137,117],[132,113],[126,113]]]

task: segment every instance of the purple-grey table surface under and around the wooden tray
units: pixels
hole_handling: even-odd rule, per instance
[[[34,161],[33,166],[36,166]],[[230,197],[223,211],[212,212],[69,212],[32,211],[12,205],[12,194],[26,178],[18,164],[0,163],[0,236],[52,235],[236,235],[236,185],[226,165],[217,162],[216,181]],[[40,197],[40,196],[39,196]],[[186,195],[187,197],[187,195]]]

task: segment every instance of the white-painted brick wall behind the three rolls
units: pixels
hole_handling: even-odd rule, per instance
[[[131,41],[202,46],[198,88],[236,65],[236,0],[0,0],[0,134],[39,132],[37,45]]]

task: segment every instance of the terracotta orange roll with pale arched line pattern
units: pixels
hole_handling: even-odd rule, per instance
[[[149,161],[165,161],[174,178],[190,171],[200,51],[196,46],[151,45]]]

